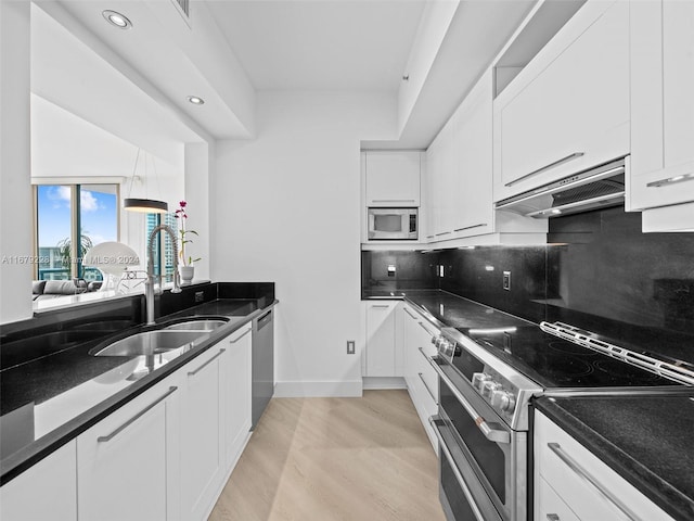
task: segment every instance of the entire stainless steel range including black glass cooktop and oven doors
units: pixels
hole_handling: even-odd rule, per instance
[[[654,394],[694,383],[660,361],[634,364],[633,354],[617,354],[592,333],[543,326],[517,319],[485,329],[444,328],[433,339],[438,354],[428,361],[439,377],[439,408],[429,421],[449,521],[532,519],[534,396]],[[609,353],[601,353],[605,346]],[[648,370],[650,363],[657,371]]]

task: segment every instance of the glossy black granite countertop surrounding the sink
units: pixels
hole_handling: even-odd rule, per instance
[[[83,331],[73,329],[21,339],[16,350],[11,343],[3,344],[0,484],[260,316],[277,304],[273,298],[273,294],[271,298],[217,298],[157,319],[157,322],[164,322],[183,317],[223,316],[229,321],[189,344],[180,356],[169,359],[166,355],[157,356],[154,368],[145,366],[144,356],[95,357],[89,354],[107,339],[143,328],[127,320],[114,321],[113,328],[106,328],[103,326],[107,321],[101,318]],[[102,330],[98,329],[100,325]],[[27,350],[33,352],[28,360],[22,354]],[[138,373],[141,370],[144,373]],[[136,373],[137,378],[132,378]]]

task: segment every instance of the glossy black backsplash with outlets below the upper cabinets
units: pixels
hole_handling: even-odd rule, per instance
[[[387,264],[396,264],[395,278]],[[510,291],[503,271],[511,271]],[[542,246],[362,252],[362,294],[416,284],[694,361],[694,233],[642,233],[639,213],[607,208],[553,218]]]

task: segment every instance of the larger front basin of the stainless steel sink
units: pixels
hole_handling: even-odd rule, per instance
[[[144,331],[90,352],[93,356],[147,356],[168,353],[202,338],[206,331]]]

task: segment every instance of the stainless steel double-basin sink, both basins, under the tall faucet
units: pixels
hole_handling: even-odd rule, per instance
[[[170,353],[213,332],[229,321],[224,317],[195,317],[165,322],[133,332],[89,352],[92,356],[152,356]]]

